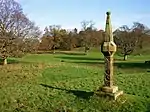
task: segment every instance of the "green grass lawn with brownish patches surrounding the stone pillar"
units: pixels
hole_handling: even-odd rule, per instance
[[[0,112],[150,112],[150,56],[115,56],[117,101],[93,94],[103,84],[100,52],[32,54],[0,65]]]

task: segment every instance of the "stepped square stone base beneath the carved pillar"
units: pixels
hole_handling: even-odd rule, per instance
[[[123,95],[123,91],[119,91],[117,86],[112,87],[102,87],[96,94],[101,97],[109,97],[113,100],[116,100],[118,96]]]

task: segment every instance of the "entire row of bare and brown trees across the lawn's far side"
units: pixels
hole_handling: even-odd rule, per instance
[[[82,30],[68,31],[60,25],[45,27],[44,33],[24,13],[21,5],[14,0],[0,0],[0,58],[7,64],[8,57],[21,57],[37,51],[73,50],[83,47],[87,53],[91,47],[100,47],[105,36],[103,30],[96,29],[93,21],[82,21]],[[124,56],[150,42],[149,28],[134,22],[129,28],[123,25],[114,32],[118,52]]]

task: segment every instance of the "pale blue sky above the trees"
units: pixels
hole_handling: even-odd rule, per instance
[[[150,0],[16,0],[30,20],[44,30],[49,25],[81,29],[81,22],[92,20],[97,29],[105,28],[106,12],[111,11],[113,30],[141,22],[150,27]]]

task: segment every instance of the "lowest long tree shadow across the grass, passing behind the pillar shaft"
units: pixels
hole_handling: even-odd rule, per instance
[[[70,62],[76,64],[89,64],[89,65],[104,65],[104,62]],[[141,68],[150,69],[150,64],[145,64],[144,62],[115,62],[114,66],[117,68],[129,69],[129,68]]]

